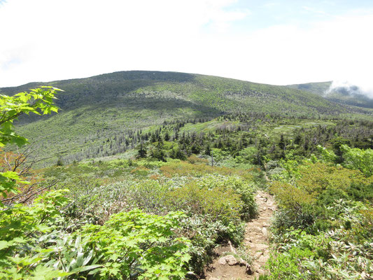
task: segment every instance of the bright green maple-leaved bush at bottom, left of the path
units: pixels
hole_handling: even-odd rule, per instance
[[[183,279],[190,260],[188,241],[176,237],[180,213],[139,210],[111,216],[104,225],[85,225],[77,235],[97,255],[97,279]],[[93,272],[92,272],[93,273]]]

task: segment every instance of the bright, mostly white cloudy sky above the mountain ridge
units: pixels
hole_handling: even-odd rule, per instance
[[[0,0],[0,87],[127,70],[373,97],[372,0]]]

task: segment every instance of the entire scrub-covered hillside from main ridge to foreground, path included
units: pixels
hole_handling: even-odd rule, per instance
[[[48,85],[1,89],[0,279],[373,278],[370,109],[185,73]]]

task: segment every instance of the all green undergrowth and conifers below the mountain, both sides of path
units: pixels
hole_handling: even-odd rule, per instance
[[[57,110],[53,93],[1,99],[1,146],[26,143],[13,120]],[[0,279],[198,279],[217,244],[241,243],[263,171],[279,211],[262,277],[370,279],[372,130],[232,113],[133,133],[116,159],[33,171],[2,152]]]

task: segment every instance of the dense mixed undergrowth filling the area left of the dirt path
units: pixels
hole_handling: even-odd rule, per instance
[[[32,279],[43,267],[50,279],[132,279],[136,274],[179,279],[186,272],[193,278],[203,273],[216,244],[240,243],[244,221],[256,214],[253,181],[219,174],[218,167],[201,174],[199,165],[205,163],[183,174],[167,167],[188,162],[143,163],[89,162],[45,170],[44,183],[59,179],[56,190],[31,207],[14,204],[2,216],[8,232],[3,277],[16,272],[20,279]],[[62,195],[64,189],[69,192]]]

